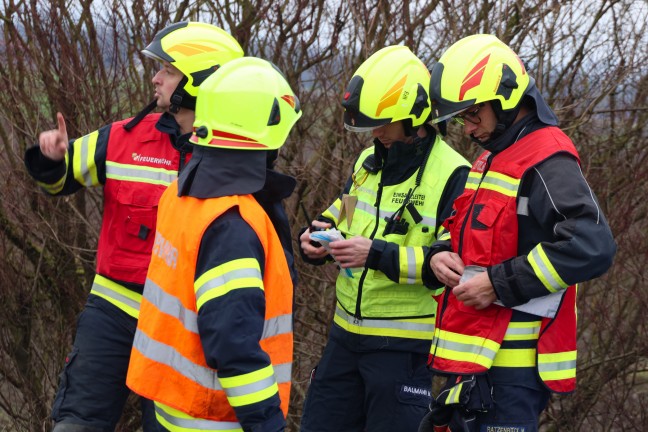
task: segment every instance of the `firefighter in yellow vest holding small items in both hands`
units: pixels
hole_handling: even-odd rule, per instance
[[[389,46],[362,63],[342,97],[345,127],[374,141],[339,198],[300,236],[306,262],[335,259],[342,268],[303,432],[416,431],[427,412],[436,302],[421,269],[469,166],[426,124],[429,80],[409,48]],[[330,242],[329,253],[310,235],[331,227],[344,239]]]

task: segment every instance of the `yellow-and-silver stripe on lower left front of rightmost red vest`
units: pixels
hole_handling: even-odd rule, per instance
[[[488,369],[499,349],[500,344],[490,339],[437,329],[431,352],[437,357],[475,363]]]

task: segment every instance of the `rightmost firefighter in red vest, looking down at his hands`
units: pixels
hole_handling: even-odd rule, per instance
[[[573,143],[508,46],[459,40],[430,86],[434,120],[456,120],[485,151],[427,255],[428,285],[447,288],[429,365],[448,380],[419,430],[536,431],[550,393],[575,388],[576,284],[605,273],[616,244]]]

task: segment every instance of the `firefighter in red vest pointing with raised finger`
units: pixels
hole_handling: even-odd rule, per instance
[[[188,158],[198,85],[243,50],[224,30],[181,22],[160,31],[143,53],[161,62],[155,100],[133,119],[68,141],[66,123],[43,132],[25,154],[49,195],[103,186],[97,269],[54,401],[54,430],[112,431],[129,390],[126,371],[155,236],[158,200]],[[149,114],[157,107],[162,114]],[[144,430],[155,430],[143,402]]]

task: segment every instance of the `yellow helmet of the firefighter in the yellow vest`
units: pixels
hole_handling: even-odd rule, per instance
[[[423,62],[402,45],[376,51],[355,72],[346,87],[342,106],[344,126],[365,132],[400,120],[421,126],[430,114],[430,73]]]

